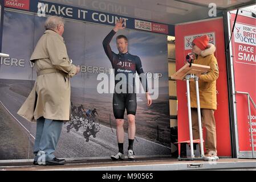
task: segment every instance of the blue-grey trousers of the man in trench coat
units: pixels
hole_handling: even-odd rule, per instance
[[[62,131],[63,121],[45,119],[43,117],[36,121],[36,135],[34,144],[34,160],[38,160],[42,154],[44,160],[55,158],[52,154],[56,150]]]

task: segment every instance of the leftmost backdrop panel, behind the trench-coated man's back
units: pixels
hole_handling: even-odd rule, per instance
[[[26,26],[25,26],[26,24]],[[0,65],[0,160],[27,159],[31,153],[30,123],[17,114],[29,95],[33,69],[34,15],[5,11]]]

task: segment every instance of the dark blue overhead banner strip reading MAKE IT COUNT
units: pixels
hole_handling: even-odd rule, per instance
[[[5,0],[5,7],[10,7],[11,9],[18,9],[23,11],[30,11],[38,14],[38,16],[59,15],[63,18],[75,19],[83,22],[105,24],[109,26],[115,26],[116,20],[119,18],[123,18],[124,25],[129,29],[147,32],[157,32],[159,34],[165,35],[174,35],[173,25],[149,22],[148,20],[135,19],[123,15],[120,16],[95,10],[83,9],[84,2],[78,2],[78,5],[81,3],[82,7],[71,6],[72,2],[70,5],[70,2],[68,1],[64,1],[66,2],[65,5],[55,2],[56,1],[52,0]],[[120,8],[116,7],[116,9]]]

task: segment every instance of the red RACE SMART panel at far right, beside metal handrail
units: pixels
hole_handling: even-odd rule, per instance
[[[235,14],[231,14],[230,24],[233,27]],[[238,15],[235,23],[233,38],[233,65],[235,91],[248,92],[256,101],[256,26],[255,18]],[[236,94],[237,101],[237,127],[239,151],[251,151],[250,122],[247,96]],[[251,122],[256,150],[256,111],[251,107]]]

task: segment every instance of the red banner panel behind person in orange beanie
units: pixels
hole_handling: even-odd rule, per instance
[[[217,80],[217,110],[216,119],[217,151],[219,156],[231,156],[229,101],[227,94],[227,75],[225,59],[225,41],[223,20],[208,19],[200,22],[180,24],[175,27],[176,35],[176,71],[186,63],[186,55],[192,52],[193,39],[208,35],[209,42],[216,46],[214,55],[218,61],[220,75]],[[189,140],[188,106],[186,97],[186,82],[177,81],[178,97],[178,141]],[[205,136],[204,136],[205,137]],[[225,139],[224,139],[225,138]]]

